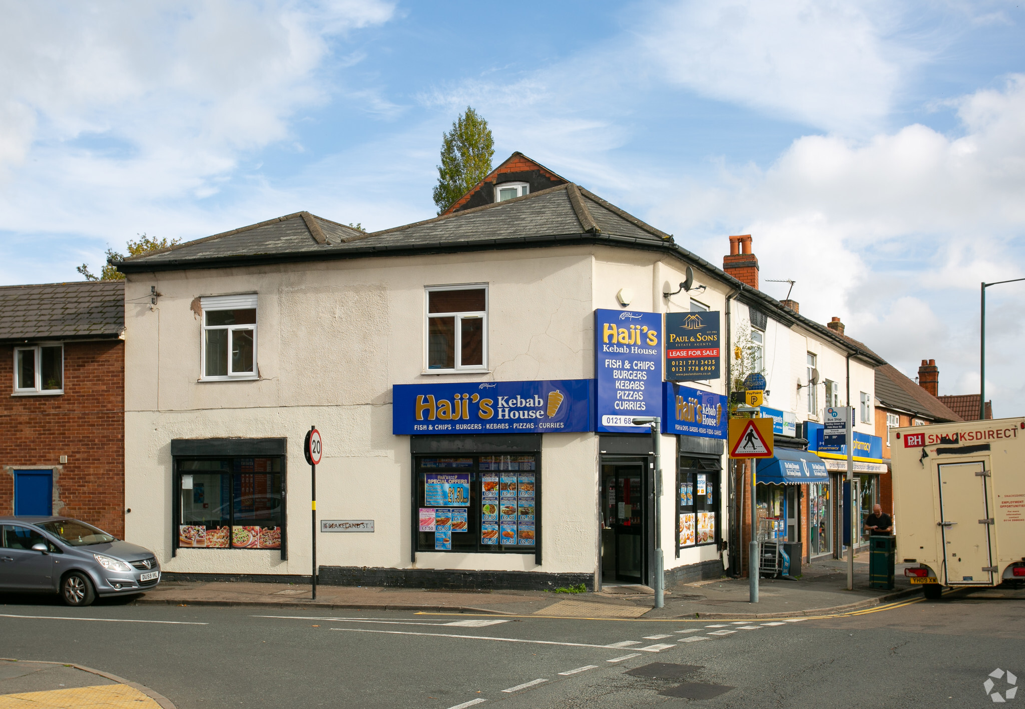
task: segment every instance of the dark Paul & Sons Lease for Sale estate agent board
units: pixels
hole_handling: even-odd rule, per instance
[[[665,378],[719,379],[719,310],[665,314]]]

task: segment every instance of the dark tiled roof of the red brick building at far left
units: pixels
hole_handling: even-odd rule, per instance
[[[124,297],[124,281],[0,287],[0,340],[119,337]]]

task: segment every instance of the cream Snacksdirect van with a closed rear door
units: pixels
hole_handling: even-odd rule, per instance
[[[1025,582],[1025,418],[890,429],[897,559],[926,597]]]

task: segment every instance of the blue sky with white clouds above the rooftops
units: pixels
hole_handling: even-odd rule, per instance
[[[466,105],[941,393],[978,390],[980,281],[1025,277],[1016,2],[2,2],[0,283],[78,280],[136,234],[308,209],[429,217]],[[987,390],[1022,413],[1025,286],[988,294]]]

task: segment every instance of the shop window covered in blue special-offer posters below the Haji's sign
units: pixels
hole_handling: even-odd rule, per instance
[[[534,553],[536,455],[416,456],[417,551]]]

